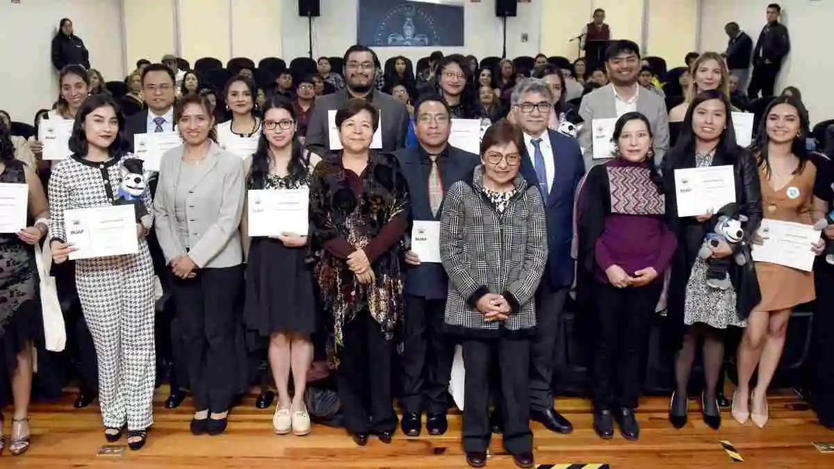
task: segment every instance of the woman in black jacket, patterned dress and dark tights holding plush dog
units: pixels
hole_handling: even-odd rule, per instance
[[[686,111],[678,144],[666,154],[663,175],[666,190],[666,215],[678,248],[671,264],[667,301],[666,345],[676,352],[676,391],[671,396],[669,420],[676,428],[686,425],[689,408],[687,389],[695,361],[698,341],[703,339],[704,390],[701,415],[707,426],[721,426],[718,382],[724,361],[724,340],[729,326],[744,327],[745,319],[758,303],[759,285],[752,261],[739,266],[731,262],[731,285],[726,289],[707,285],[709,265],[698,256],[705,236],[716,225],[710,210],[700,216],[679,216],[675,172],[681,169],[731,166],[738,214],[747,218],[747,239],[761,220],[761,192],[756,162],[736,145],[731,107],[726,94],[711,90],[696,95]],[[736,244],[732,249],[721,242],[712,257],[723,259],[749,248]]]

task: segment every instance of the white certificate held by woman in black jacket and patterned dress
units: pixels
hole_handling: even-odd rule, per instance
[[[730,164],[675,170],[679,217],[694,217],[736,202],[736,177]]]

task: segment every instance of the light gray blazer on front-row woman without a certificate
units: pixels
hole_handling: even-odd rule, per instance
[[[184,149],[179,146],[163,154],[153,200],[156,234],[168,262],[186,254],[174,211]],[[212,142],[198,170],[203,173],[188,190],[185,208],[188,245],[192,246],[188,256],[200,268],[239,265],[244,259],[238,230],[244,209],[244,160]]]

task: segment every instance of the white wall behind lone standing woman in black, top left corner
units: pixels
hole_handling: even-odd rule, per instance
[[[90,64],[104,79],[124,78],[119,0],[2,1],[0,108],[13,120],[31,123],[39,108],[48,108],[58,98],[58,73],[50,52],[61,18],[73,20],[75,33],[90,52]]]

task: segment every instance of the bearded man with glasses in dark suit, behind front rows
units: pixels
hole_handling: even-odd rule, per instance
[[[344,89],[316,99],[315,110],[307,126],[304,144],[315,154],[335,150],[330,147],[329,129],[335,112],[352,98],[364,98],[379,109],[382,150],[392,152],[405,146],[409,131],[409,111],[405,104],[389,94],[374,90],[378,59],[371,49],[354,45],[344,53]],[[330,115],[333,115],[331,118]],[[374,145],[371,145],[374,148]]]

